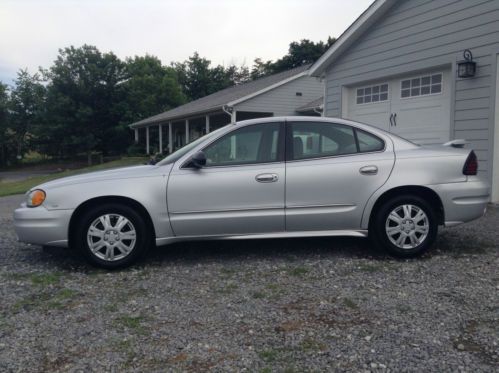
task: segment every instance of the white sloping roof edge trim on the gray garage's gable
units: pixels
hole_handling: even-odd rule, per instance
[[[397,0],[375,0],[354,23],[348,27],[336,42],[324,53],[310,68],[309,75],[320,77],[346,49],[348,49],[358,38],[386,11],[391,8]]]

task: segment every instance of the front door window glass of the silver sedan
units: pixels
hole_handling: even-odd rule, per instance
[[[263,123],[228,133],[203,150],[206,167],[278,161],[279,129],[279,123]]]

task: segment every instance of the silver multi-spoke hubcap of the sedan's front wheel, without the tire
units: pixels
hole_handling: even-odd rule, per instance
[[[106,214],[95,219],[87,231],[88,247],[105,261],[123,259],[135,247],[137,233],[132,222],[119,214]]]

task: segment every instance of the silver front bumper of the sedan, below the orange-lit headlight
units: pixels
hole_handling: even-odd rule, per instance
[[[68,227],[73,210],[48,210],[43,205],[14,211],[14,229],[19,241],[46,246],[68,246]]]

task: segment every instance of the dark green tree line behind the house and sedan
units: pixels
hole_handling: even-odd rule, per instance
[[[213,66],[195,52],[184,62],[162,65],[154,56],[120,60],[95,46],[68,47],[42,77],[18,72],[14,86],[0,82],[0,166],[35,151],[52,158],[92,153],[136,155],[128,125],[224,88],[317,60],[326,43],[292,42],[274,61]],[[42,79],[43,78],[43,79]]]

